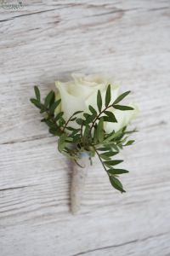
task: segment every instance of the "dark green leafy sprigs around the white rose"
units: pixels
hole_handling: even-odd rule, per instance
[[[48,93],[43,102],[38,87],[35,86],[34,90],[36,98],[31,98],[31,102],[40,109],[40,113],[43,115],[41,121],[48,125],[49,132],[59,137],[59,152],[74,160],[77,165],[79,165],[78,160],[82,153],[85,152],[89,155],[91,163],[92,157],[97,154],[105,172],[108,174],[111,185],[121,192],[126,192],[118,177],[128,171],[117,169],[116,166],[122,163],[123,160],[113,160],[113,157],[122,148],[133,144],[134,141],[127,141],[127,138],[135,130],[127,131],[125,126],[119,131],[106,133],[104,122],[117,122],[116,116],[110,111],[111,108],[121,111],[133,110],[131,107],[119,104],[130,91],[123,93],[114,102],[111,102],[111,85],[109,84],[105,93],[105,102],[102,101],[100,90],[98,90],[98,110],[94,109],[93,106],[88,106],[89,113],[77,111],[68,120],[65,120],[63,112],[55,114],[55,109],[59,107],[61,100],[55,100],[53,90]],[[76,122],[77,128],[73,128],[71,122]]]

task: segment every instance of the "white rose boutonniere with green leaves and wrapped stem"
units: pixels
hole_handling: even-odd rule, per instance
[[[58,137],[59,152],[73,161],[71,181],[71,212],[80,209],[88,163],[99,158],[111,185],[125,192],[119,177],[127,173],[117,168],[122,160],[117,154],[133,144],[128,137],[135,130],[127,125],[135,119],[139,109],[134,104],[122,103],[130,91],[119,94],[114,79],[99,75],[73,74],[66,83],[56,82],[42,101],[40,90],[34,87],[31,102],[40,109],[42,122],[48,131]]]

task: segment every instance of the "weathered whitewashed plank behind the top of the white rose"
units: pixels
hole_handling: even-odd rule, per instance
[[[59,15],[54,10],[34,19],[27,15],[1,23],[1,143],[48,136],[47,130],[38,125],[39,114],[29,102],[32,86],[40,84],[47,92],[54,87],[54,80],[73,71],[116,74],[124,89],[135,92],[142,113],[144,109],[148,113],[148,108],[156,112],[155,106],[162,106],[157,111],[163,114],[160,121],[166,122],[170,94],[169,9],[150,14],[139,5],[139,9],[125,11],[119,17],[113,5],[105,6],[113,11],[105,15],[102,5],[85,7],[80,4],[67,11],[59,9]],[[155,120],[153,116],[147,122],[154,125]]]

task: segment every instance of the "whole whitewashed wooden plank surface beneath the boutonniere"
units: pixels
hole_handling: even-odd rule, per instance
[[[170,1],[24,1],[0,9],[0,255],[170,255]],[[96,160],[82,212],[71,163],[31,106],[72,72],[111,73],[140,116],[121,195]]]

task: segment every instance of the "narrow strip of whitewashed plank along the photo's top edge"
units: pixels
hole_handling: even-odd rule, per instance
[[[71,9],[81,9],[82,11],[86,10],[88,14],[90,13],[90,8],[96,14],[98,11],[102,11],[102,15],[105,14],[108,10],[111,9],[122,9],[122,10],[139,10],[142,9],[144,11],[159,11],[160,9],[168,9],[170,3],[168,0],[165,1],[154,1],[150,0],[143,0],[140,3],[136,1],[127,0],[126,2],[123,1],[112,1],[112,0],[105,0],[98,1],[94,0],[93,3],[90,0],[68,0],[68,1],[35,1],[35,0],[24,0],[22,3],[25,5],[24,8],[19,10],[17,9],[0,9],[1,21],[6,21],[8,19],[19,18],[22,15],[38,15],[41,12],[50,12],[53,10],[62,11],[64,9],[65,13],[69,13],[67,18],[72,16]],[[83,12],[81,12],[83,14]],[[82,16],[80,12],[78,13],[77,17]]]

